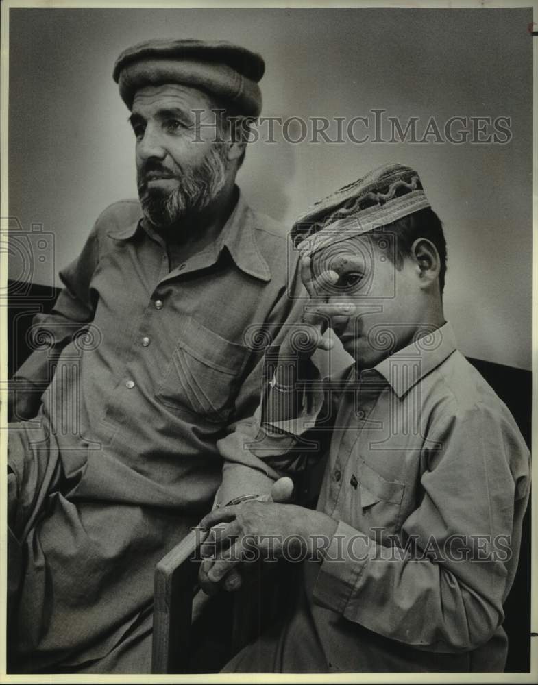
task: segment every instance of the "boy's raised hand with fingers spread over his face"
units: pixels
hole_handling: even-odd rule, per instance
[[[282,353],[295,353],[302,359],[309,359],[316,349],[328,350],[333,347],[333,340],[323,337],[326,330],[334,325],[345,325],[355,311],[351,301],[329,302],[334,294],[330,286],[334,286],[338,279],[338,273],[331,269],[314,278],[310,258],[301,258],[301,280],[310,295],[310,301],[304,308],[301,323],[294,327],[280,346]]]

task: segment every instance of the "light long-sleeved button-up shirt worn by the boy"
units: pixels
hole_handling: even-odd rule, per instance
[[[323,389],[250,447],[284,471],[330,436],[317,509],[340,523],[305,564],[295,635],[315,631],[337,671],[502,671],[530,479],[509,410],[448,323]]]

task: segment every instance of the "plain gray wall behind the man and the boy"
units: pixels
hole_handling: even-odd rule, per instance
[[[531,21],[530,8],[11,9],[10,216],[56,239],[53,269],[36,263],[34,281],[53,281],[109,203],[136,197],[134,136],[112,81],[120,51],[153,37],[232,40],[265,58],[266,116],[511,117],[507,145],[258,142],[239,184],[291,226],[373,166],[414,166],[445,225],[445,315],[461,350],[530,369]]]

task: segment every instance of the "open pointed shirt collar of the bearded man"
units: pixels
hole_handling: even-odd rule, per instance
[[[232,210],[232,214],[228,217],[228,221],[223,225],[219,235],[218,249],[215,249],[213,252],[204,251],[203,264],[199,264],[199,260],[197,260],[195,256],[193,258],[193,267],[199,269],[215,264],[219,257],[219,253],[222,251],[223,247],[226,247],[241,271],[259,278],[262,281],[270,281],[271,270],[256,243],[254,212],[249,208],[243,198],[243,193],[237,187],[236,192],[238,195],[237,202]],[[123,229],[108,232],[108,236],[115,240],[130,240],[130,238],[134,237],[134,234],[136,234],[139,228],[145,228],[143,225],[144,221],[145,219],[140,217],[140,219]],[[188,273],[188,271],[194,271],[194,268],[186,269],[185,271],[182,271],[182,273]]]

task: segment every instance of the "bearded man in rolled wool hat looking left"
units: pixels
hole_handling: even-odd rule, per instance
[[[114,66],[140,201],[99,216],[16,373],[14,421],[38,420],[9,434],[11,671],[149,671],[156,562],[210,510],[224,455],[222,503],[265,482],[241,433],[300,284],[234,184],[264,68],[199,40]]]

